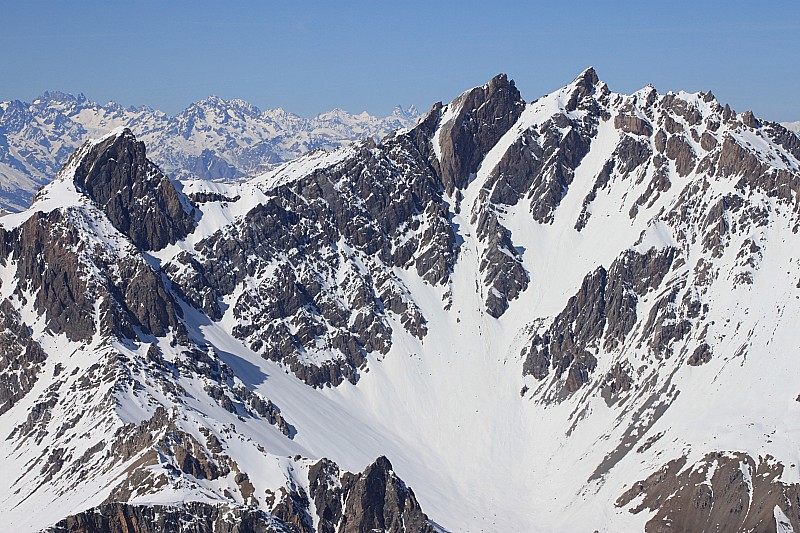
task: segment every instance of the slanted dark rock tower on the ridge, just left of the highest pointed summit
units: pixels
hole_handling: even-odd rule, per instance
[[[483,157],[517,121],[525,102],[505,74],[461,95],[455,117],[439,134],[440,175],[448,194],[463,189]]]

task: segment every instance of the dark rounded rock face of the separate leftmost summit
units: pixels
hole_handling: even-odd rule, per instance
[[[75,185],[142,250],[158,250],[194,227],[193,208],[157,166],[145,157],[143,142],[126,129],[88,148]],[[70,162],[67,163],[69,165]]]

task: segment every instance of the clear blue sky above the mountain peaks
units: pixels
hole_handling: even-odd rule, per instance
[[[216,94],[310,116],[426,110],[499,72],[532,100],[713,90],[800,120],[800,2],[0,2],[0,100],[48,89],[176,113]]]

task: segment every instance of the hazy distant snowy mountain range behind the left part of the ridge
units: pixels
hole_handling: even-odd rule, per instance
[[[417,110],[397,106],[383,118],[334,109],[302,118],[211,96],[172,116],[150,107],[100,105],[83,94],[45,92],[33,102],[0,102],[0,208],[19,211],[89,138],[130,128],[150,158],[174,178],[239,178],[309,150],[376,140],[414,124]]]

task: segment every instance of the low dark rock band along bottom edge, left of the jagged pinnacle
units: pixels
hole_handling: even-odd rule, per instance
[[[69,516],[47,533],[289,533],[285,524],[255,509],[200,502],[182,508],[107,503]]]

